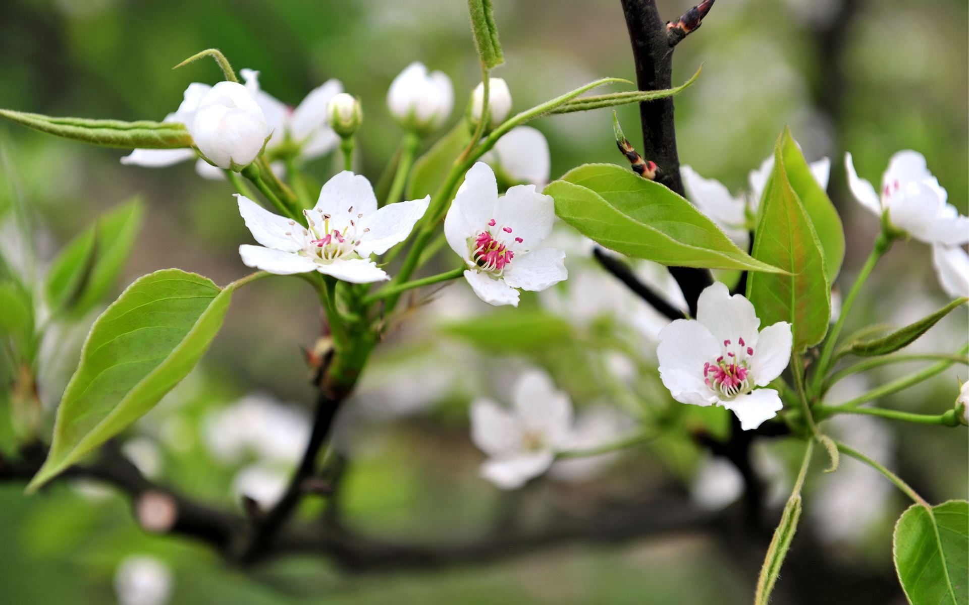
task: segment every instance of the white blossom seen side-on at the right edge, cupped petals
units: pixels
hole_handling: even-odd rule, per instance
[[[959,246],[969,242],[969,217],[959,216],[946,190],[932,176],[925,158],[917,151],[899,151],[891,156],[882,175],[881,196],[867,180],[860,178],[850,153],[845,154],[848,186],[862,206],[892,227],[905,231],[926,244]]]

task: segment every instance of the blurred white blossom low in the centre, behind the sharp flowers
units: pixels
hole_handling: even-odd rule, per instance
[[[471,439],[488,455],[481,474],[504,490],[544,473],[572,439],[572,403],[544,373],[523,373],[512,403],[508,409],[479,399],[471,406]]]

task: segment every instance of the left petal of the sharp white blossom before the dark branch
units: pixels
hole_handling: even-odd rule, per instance
[[[709,406],[717,398],[703,382],[703,366],[720,355],[720,344],[696,319],[676,319],[659,334],[656,348],[660,378],[672,398],[683,404]]]

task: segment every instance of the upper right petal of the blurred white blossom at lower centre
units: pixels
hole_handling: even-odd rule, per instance
[[[566,447],[571,438],[572,402],[557,390],[544,372],[522,373],[512,393],[512,403],[525,431],[546,439],[550,448]]]

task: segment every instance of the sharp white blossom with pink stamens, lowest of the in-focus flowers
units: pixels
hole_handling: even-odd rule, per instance
[[[749,300],[721,283],[703,289],[696,319],[676,319],[660,332],[660,378],[672,398],[694,406],[731,409],[743,430],[756,429],[783,407],[766,386],[791,357],[791,324],[761,331]]]

